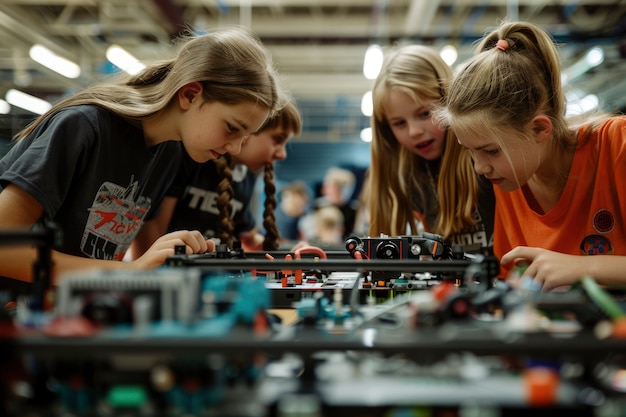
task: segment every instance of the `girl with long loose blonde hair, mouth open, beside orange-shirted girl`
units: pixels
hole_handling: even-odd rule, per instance
[[[427,231],[466,251],[493,245],[492,186],[473,172],[454,133],[432,120],[451,78],[427,46],[404,46],[386,57],[372,91],[370,236]]]

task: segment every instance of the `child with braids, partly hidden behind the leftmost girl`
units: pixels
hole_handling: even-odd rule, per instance
[[[239,154],[205,164],[186,158],[171,195],[165,198],[156,221],[146,229],[149,233],[141,233],[133,244],[133,254],[143,253],[162,234],[188,229],[200,230],[206,239],[219,238],[230,248],[236,238],[244,250],[276,250],[279,236],[273,221],[276,207],[273,163],[287,157],[287,141],[301,130],[300,112],[295,103],[288,102],[256,133],[245,138]],[[256,228],[250,210],[254,185],[262,169],[265,235]]]

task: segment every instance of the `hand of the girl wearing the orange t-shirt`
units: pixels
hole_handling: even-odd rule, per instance
[[[588,256],[567,255],[542,248],[518,246],[500,260],[501,264],[527,263],[524,275],[533,277],[542,286],[542,291],[572,285],[585,276]]]

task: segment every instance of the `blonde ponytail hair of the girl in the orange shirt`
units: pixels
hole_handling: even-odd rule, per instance
[[[500,40],[506,41],[500,44],[505,45],[502,49],[496,47]],[[435,116],[457,133],[480,131],[494,138],[510,161],[505,138],[530,137],[530,123],[538,114],[552,122],[555,154],[576,147],[573,120],[566,118],[556,43],[532,23],[502,22],[480,41],[476,55],[450,84],[446,107]],[[518,133],[511,135],[511,131]],[[561,173],[563,178],[566,175]]]

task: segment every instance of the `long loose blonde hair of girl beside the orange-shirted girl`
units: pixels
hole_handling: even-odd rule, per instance
[[[413,210],[426,214],[429,207],[427,161],[405,149],[395,138],[384,109],[388,94],[400,91],[416,103],[440,104],[451,78],[451,68],[428,46],[404,46],[385,59],[372,91],[373,138],[368,184],[370,195],[375,198],[369,199],[371,236],[404,235],[407,224],[417,234]],[[430,231],[448,237],[475,224],[472,214],[478,205],[477,177],[469,155],[451,131],[446,132],[436,192],[440,210],[435,224],[427,225]],[[412,201],[417,207],[412,207]]]

